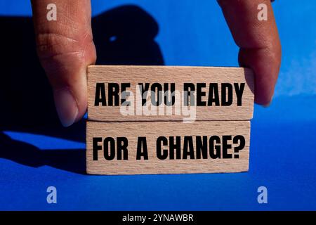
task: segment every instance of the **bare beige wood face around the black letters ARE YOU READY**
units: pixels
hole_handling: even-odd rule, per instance
[[[183,120],[180,115],[121,115],[120,106],[94,106],[96,83],[131,83],[129,91],[136,93],[136,85],[149,82],[176,83],[176,90],[183,90],[183,83],[206,83],[207,101],[208,84],[245,83],[242,105],[237,106],[233,98],[230,106],[197,106],[196,120],[251,120],[254,110],[254,76],[245,68],[211,68],[211,67],[175,67],[175,66],[124,66],[93,65],[88,67],[88,120],[93,121],[164,121]],[[235,90],[234,90],[235,94]]]

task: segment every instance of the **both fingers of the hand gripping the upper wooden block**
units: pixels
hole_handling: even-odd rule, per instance
[[[270,103],[281,61],[277,27],[268,0],[219,0],[232,35],[240,47],[239,64],[254,70],[255,101]],[[91,31],[90,0],[55,0],[56,21],[46,19],[50,0],[32,0],[37,52],[53,87],[60,121],[65,127],[86,113],[86,67],[96,62]],[[268,20],[257,18],[258,4],[268,6]]]

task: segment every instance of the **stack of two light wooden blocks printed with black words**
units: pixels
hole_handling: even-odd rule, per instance
[[[249,169],[254,76],[246,68],[88,67],[88,174]]]

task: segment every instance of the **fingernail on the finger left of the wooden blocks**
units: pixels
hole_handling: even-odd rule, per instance
[[[71,92],[65,89],[54,91],[55,106],[62,126],[69,127],[77,118],[78,107]]]

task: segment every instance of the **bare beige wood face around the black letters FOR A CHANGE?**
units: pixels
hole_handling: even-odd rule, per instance
[[[187,174],[213,172],[245,172],[249,168],[249,121],[213,122],[87,122],[86,167],[88,174]],[[232,159],[181,159],[159,160],[156,155],[156,140],[159,136],[223,136],[242,135],[246,141],[239,158]],[[129,141],[128,160],[105,160],[103,149],[98,150],[98,160],[93,160],[93,137],[126,137]],[[136,160],[138,136],[147,137],[148,160]],[[168,138],[169,139],[169,138]],[[238,146],[229,141],[232,147]],[[102,143],[100,143],[101,145]],[[168,148],[168,147],[166,147]],[[195,148],[196,150],[196,148]],[[228,150],[234,153],[234,148]],[[117,154],[117,153],[116,153]],[[196,156],[196,152],[195,152]]]

